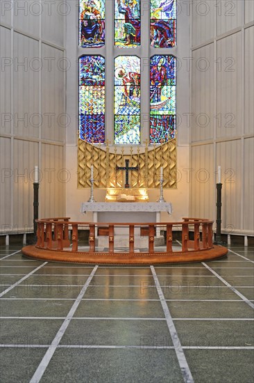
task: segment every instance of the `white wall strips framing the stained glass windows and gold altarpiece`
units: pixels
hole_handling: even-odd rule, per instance
[[[107,44],[99,49],[99,54],[105,56],[106,63],[105,77],[108,90],[106,91],[106,132],[105,138],[113,141],[113,91],[114,84],[114,57],[121,54],[138,54],[142,62],[142,136],[141,147],[144,148],[145,139],[149,138],[149,58],[153,54],[173,54],[178,58],[179,70],[177,73],[177,114],[178,114],[178,189],[164,190],[164,198],[173,204],[173,214],[171,220],[178,220],[185,217],[189,210],[189,183],[187,179],[187,170],[189,168],[189,123],[187,114],[189,114],[189,69],[187,68],[186,57],[190,56],[189,48],[189,15],[182,3],[181,11],[178,12],[177,46],[173,49],[151,49],[149,42],[149,6],[148,1],[142,1],[142,46],[135,49],[117,49],[112,44]],[[74,3],[74,6],[72,6]],[[91,220],[92,214],[83,215],[80,212],[81,203],[90,198],[90,189],[77,188],[77,134],[78,134],[78,57],[82,54],[95,54],[94,49],[82,49],[78,47],[78,1],[71,2],[71,12],[67,18],[67,57],[71,61],[71,70],[67,74],[67,113],[71,118],[71,124],[67,129],[66,146],[66,166],[71,173],[71,180],[67,183],[67,201],[66,212],[71,219],[78,221]],[[106,1],[106,33],[108,39],[113,42],[114,26],[114,1]],[[146,36],[146,37],[145,37]],[[74,41],[76,44],[74,44]],[[96,52],[97,54],[98,52]],[[110,144],[110,149],[114,147]],[[126,146],[125,153],[128,153],[130,147]],[[118,146],[120,153],[121,146]],[[142,149],[141,149],[142,150]],[[184,170],[185,169],[185,170]],[[160,195],[159,189],[149,190],[150,201],[156,201]],[[105,190],[94,190],[96,201],[104,201]],[[71,202],[70,202],[71,201]],[[162,214],[163,220],[169,220],[167,214]]]

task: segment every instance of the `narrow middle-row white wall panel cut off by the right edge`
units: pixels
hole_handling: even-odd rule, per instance
[[[254,133],[254,26],[245,30],[244,133]]]

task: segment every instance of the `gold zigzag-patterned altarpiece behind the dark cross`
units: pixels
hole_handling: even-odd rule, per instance
[[[106,189],[105,201],[117,201],[117,196],[135,196],[135,201],[148,201],[147,189],[160,188],[160,174],[163,169],[163,188],[176,189],[176,139],[160,146],[145,148],[110,147],[88,143],[78,139],[78,188],[91,187],[91,166],[94,173],[94,188]],[[141,150],[143,150],[141,152]],[[120,151],[120,153],[119,153]],[[137,170],[129,171],[129,187],[125,187],[124,167],[128,160],[130,167]]]

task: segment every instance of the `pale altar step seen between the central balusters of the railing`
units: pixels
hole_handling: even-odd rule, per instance
[[[162,246],[164,245],[164,236],[154,237],[154,245]],[[108,247],[108,236],[99,235],[96,238],[95,242],[98,247]],[[115,235],[114,236],[114,247],[128,247],[129,246],[129,236],[128,235]],[[135,235],[134,247],[142,248],[149,247],[149,238],[147,236],[138,236]]]

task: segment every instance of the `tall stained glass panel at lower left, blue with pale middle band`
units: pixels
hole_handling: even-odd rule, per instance
[[[79,59],[79,136],[88,142],[105,141],[105,59]]]

